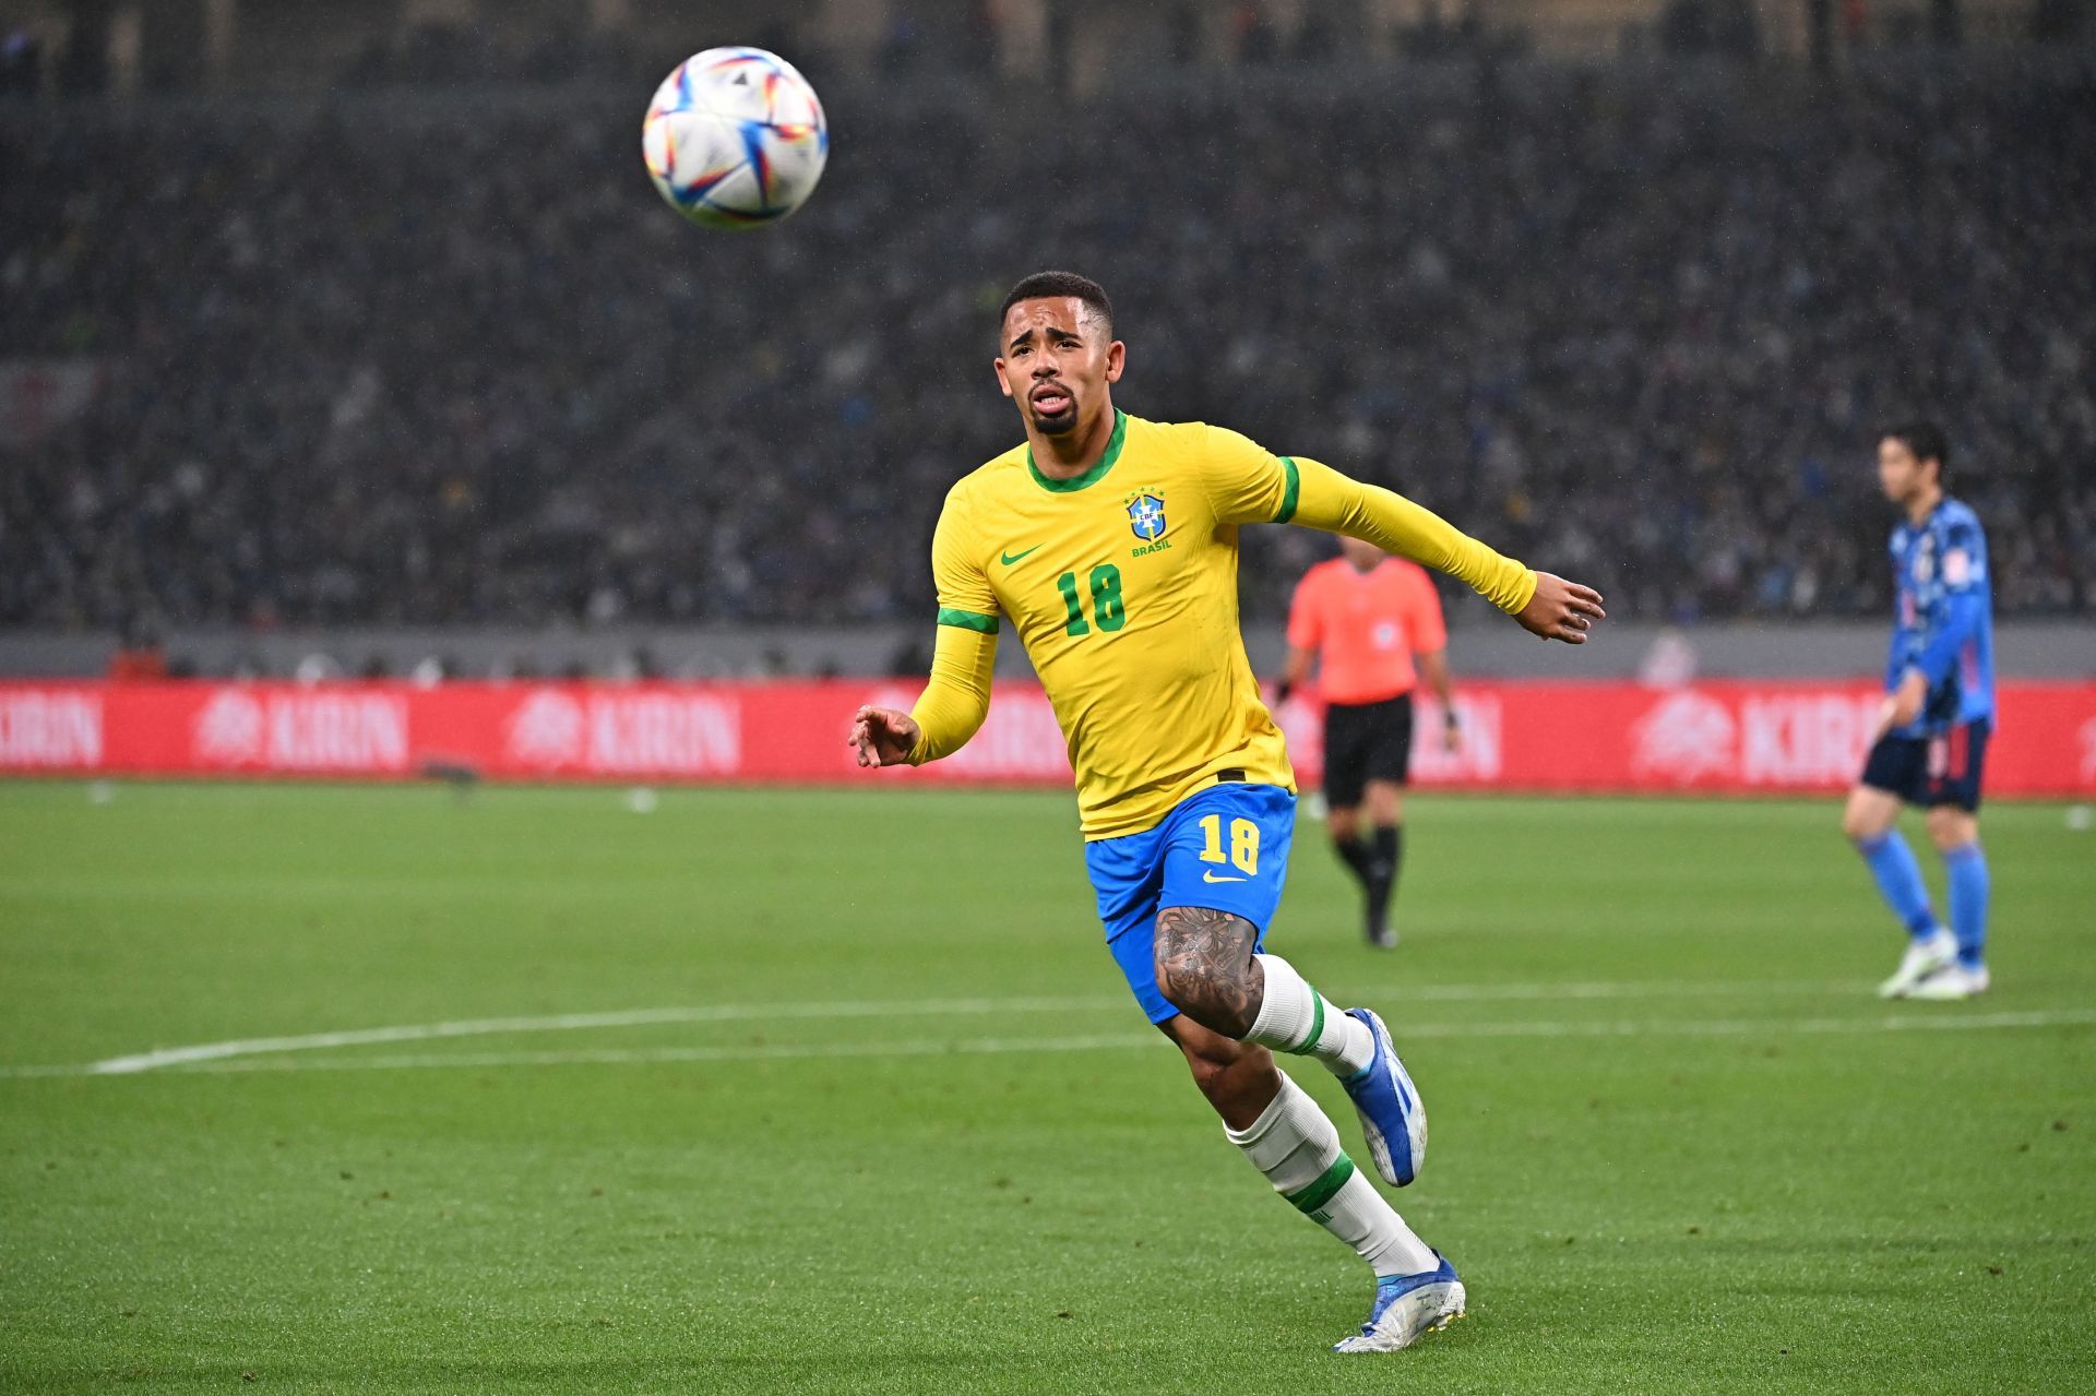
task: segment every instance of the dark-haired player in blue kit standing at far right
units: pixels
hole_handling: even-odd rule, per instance
[[[1987,989],[1987,855],[1979,786],[1993,732],[1993,593],[1987,535],[1943,493],[1947,446],[1926,421],[1878,440],[1878,484],[1903,518],[1893,528],[1893,654],[1884,719],[1842,832],[1912,937],[1880,998],[1958,1000]],[[1928,811],[1928,838],[1949,874],[1945,929],[1922,868],[1901,838],[1901,805]]]

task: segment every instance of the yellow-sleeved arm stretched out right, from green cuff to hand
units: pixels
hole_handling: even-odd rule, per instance
[[[1448,572],[1543,639],[1585,644],[1593,623],[1608,614],[1593,587],[1532,572],[1402,495],[1341,476],[1323,461],[1295,457],[1293,465],[1297,501],[1293,518],[1281,522],[1344,532]]]

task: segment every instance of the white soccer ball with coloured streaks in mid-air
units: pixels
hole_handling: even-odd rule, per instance
[[[763,48],[708,48],[662,80],[641,124],[648,176],[706,228],[761,228],[815,193],[830,124],[815,88]]]

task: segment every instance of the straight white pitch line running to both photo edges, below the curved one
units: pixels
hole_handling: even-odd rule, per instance
[[[1664,1019],[1599,1023],[1404,1023],[1400,1038],[1777,1038],[1786,1033],[1985,1031],[2027,1027],[2096,1027],[2096,1008],[1983,1015],[1857,1017],[1857,1019]],[[977,1038],[960,1042],[864,1042],[805,1046],[595,1048],[572,1052],[442,1052],[396,1056],[247,1056],[174,1065],[176,1073],[233,1071],[402,1071],[430,1067],[568,1067],[646,1063],[843,1061],[864,1056],[983,1056],[1006,1052],[1090,1052],[1157,1046],[1155,1033],[1082,1038]],[[96,1075],[82,1067],[10,1067],[0,1075]]]

